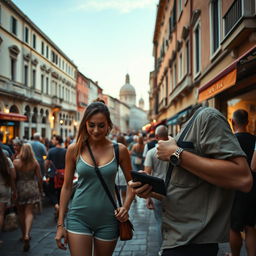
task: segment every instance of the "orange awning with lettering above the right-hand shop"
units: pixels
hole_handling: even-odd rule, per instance
[[[256,46],[235,60],[226,69],[221,71],[215,78],[199,88],[198,101],[202,102],[212,98],[227,88],[234,86],[239,76],[239,71],[246,64],[256,60]]]

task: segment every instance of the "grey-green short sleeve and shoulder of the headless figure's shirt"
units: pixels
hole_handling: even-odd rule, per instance
[[[207,109],[198,118],[201,152],[210,158],[228,159],[245,156],[226,118],[217,110]]]

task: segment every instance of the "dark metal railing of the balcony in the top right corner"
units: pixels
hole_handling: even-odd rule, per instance
[[[255,0],[236,0],[224,18],[224,33],[227,36],[244,17],[252,17],[255,13]]]

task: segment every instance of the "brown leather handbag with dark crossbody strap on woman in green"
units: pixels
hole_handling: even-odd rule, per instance
[[[105,181],[104,181],[104,179],[103,179],[103,177],[102,177],[102,175],[100,173],[100,170],[99,170],[99,168],[97,166],[97,163],[95,161],[95,158],[93,156],[93,153],[92,153],[92,150],[91,150],[91,147],[90,147],[88,141],[86,141],[86,144],[87,144],[90,156],[92,158],[92,161],[94,163],[96,174],[97,174],[97,176],[98,176],[98,178],[99,178],[99,180],[100,180],[100,182],[101,182],[105,192],[107,193],[107,195],[108,195],[108,197],[109,197],[109,199],[110,199],[114,209],[117,210],[117,204],[116,204],[115,200],[113,199],[113,197],[112,197],[112,195],[111,195],[111,193],[110,193],[110,191],[109,191],[109,189],[108,189],[108,187],[107,187],[107,185],[106,185],[106,183],[105,183]],[[116,155],[117,163],[119,165],[118,144],[114,144],[114,150],[115,150],[115,155]],[[120,207],[122,207],[120,194],[118,192],[118,189],[117,189],[116,185],[115,185],[115,190],[116,190],[116,195],[117,195],[118,203],[119,203]],[[133,225],[132,225],[132,223],[131,223],[131,221],[129,219],[127,221],[125,221],[125,222],[120,222],[119,221],[119,236],[120,236],[120,240],[122,240],[122,241],[131,240],[132,237],[133,237],[133,231],[134,231]]]

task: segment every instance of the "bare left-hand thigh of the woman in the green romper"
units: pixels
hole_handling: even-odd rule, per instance
[[[92,255],[92,236],[68,232],[68,245],[71,256]]]

